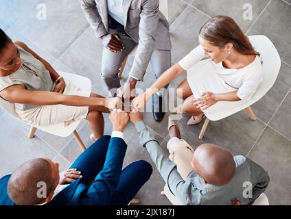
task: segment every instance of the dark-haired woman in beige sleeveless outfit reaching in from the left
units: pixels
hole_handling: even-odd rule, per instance
[[[42,57],[23,42],[12,40],[0,29],[0,97],[15,103],[16,113],[35,126],[69,123],[85,118],[93,133],[104,134],[102,112],[119,104],[65,81]]]

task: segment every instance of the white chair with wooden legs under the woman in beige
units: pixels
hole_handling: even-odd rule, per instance
[[[91,91],[91,81],[90,79],[86,77],[82,77],[80,75],[70,74],[70,73],[63,73],[58,72],[62,77],[64,77],[65,80],[71,81],[75,86],[82,90],[88,90]],[[8,101],[3,100],[0,98],[0,106],[9,114],[14,116],[15,118],[21,120],[18,114],[15,112],[15,106],[14,103],[10,103]],[[78,125],[80,124],[81,120],[75,121],[71,123],[69,126],[64,127],[64,123],[58,123],[56,125],[49,125],[49,126],[39,126],[39,127],[31,127],[30,133],[28,134],[28,138],[34,138],[34,134],[36,133],[36,129],[43,130],[47,133],[51,133],[55,136],[60,137],[67,137],[71,134],[73,134],[75,140],[77,140],[78,144],[80,145],[81,149],[83,151],[86,150],[86,147],[84,146],[84,143],[82,142],[80,136],[78,135],[78,132],[76,131]],[[29,124],[28,124],[29,125]]]

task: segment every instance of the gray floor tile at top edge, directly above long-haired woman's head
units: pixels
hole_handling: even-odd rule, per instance
[[[198,8],[202,12],[205,12],[209,16],[216,16],[218,14],[231,16],[242,28],[242,31],[247,31],[251,27],[252,23],[259,16],[269,0],[243,0],[243,1],[231,1],[231,0],[195,0],[191,3],[194,7]],[[251,5],[253,8],[253,19],[244,20],[244,5]],[[247,7],[248,8],[248,7]]]

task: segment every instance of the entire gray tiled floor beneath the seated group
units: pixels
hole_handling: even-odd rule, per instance
[[[37,6],[45,3],[47,20],[38,21]],[[253,19],[245,21],[244,5],[251,4]],[[253,105],[257,115],[251,121],[245,112],[229,116],[224,120],[211,122],[205,138],[198,140],[201,125],[187,127],[188,116],[179,121],[183,138],[194,148],[203,142],[220,144],[233,155],[247,155],[268,170],[271,178],[266,191],[270,204],[291,205],[291,1],[290,0],[169,0],[170,32],[172,37],[172,62],[178,62],[192,48],[198,45],[198,30],[209,17],[225,14],[235,18],[248,35],[264,34],[272,40],[281,56],[281,70],[272,89],[263,99]],[[107,90],[100,77],[102,44],[97,40],[80,9],[79,1],[49,0],[0,0],[0,27],[13,40],[23,40],[39,55],[45,57],[58,70],[89,77],[93,91],[106,95]],[[124,72],[127,75],[130,66]],[[148,68],[146,81],[139,83],[146,88],[152,82],[152,70]],[[184,75],[185,77],[185,75]],[[176,79],[171,86],[181,81]],[[106,133],[110,123],[106,118]],[[144,118],[152,134],[165,149],[167,118],[154,122],[151,114]],[[32,157],[49,157],[60,163],[62,170],[81,151],[72,137],[57,138],[43,131],[36,138],[27,139],[29,127],[23,125],[0,108],[0,176],[12,172],[17,166]],[[86,145],[90,130],[86,122],[78,127]],[[148,153],[139,146],[137,132],[132,125],[126,128],[128,151],[125,164],[137,159],[150,160]],[[169,205],[161,196],[164,182],[154,168],[150,181],[139,191],[137,197],[142,205]]]

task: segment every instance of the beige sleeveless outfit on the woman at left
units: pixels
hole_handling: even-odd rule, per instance
[[[22,60],[21,67],[16,72],[0,77],[0,91],[16,84],[22,84],[27,90],[53,91],[56,85],[49,71],[42,62],[21,47],[17,47]],[[89,97],[91,92],[81,90],[70,81],[65,81],[63,94]],[[14,103],[16,113],[25,123],[35,126],[48,126],[57,123],[69,125],[75,120],[86,118],[89,107],[74,107],[67,105],[28,105]]]

